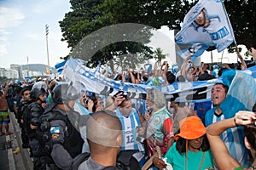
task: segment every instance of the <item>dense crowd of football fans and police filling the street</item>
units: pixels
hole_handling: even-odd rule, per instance
[[[216,83],[200,116],[195,104],[166,101],[157,88],[221,76],[221,71],[214,76],[209,65],[195,67],[189,59],[176,71],[165,61],[160,69],[128,69],[113,77],[155,87],[143,101],[146,111],[125,92],[103,96],[55,79],[8,81],[0,90],[0,136],[13,134],[9,114],[14,113],[22,148],[30,150],[37,170],[256,169],[256,105],[247,111],[233,102],[236,107],[230,111],[223,106],[229,103],[230,87]],[[242,60],[241,65],[247,68]]]

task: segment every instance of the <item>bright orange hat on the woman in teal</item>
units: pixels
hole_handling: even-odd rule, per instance
[[[179,123],[179,128],[180,133],[175,135],[175,140],[177,140],[179,137],[182,137],[183,139],[198,139],[207,133],[207,128],[204,126],[198,116],[189,116],[184,118]]]

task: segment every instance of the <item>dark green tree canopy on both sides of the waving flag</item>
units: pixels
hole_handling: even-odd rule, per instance
[[[138,64],[143,62],[143,59],[153,58],[154,55],[152,49],[146,45],[152,34],[148,27],[143,26],[151,26],[155,29],[168,26],[170,29],[179,30],[185,14],[197,2],[191,0],[70,0],[72,11],[65,14],[65,18],[60,21],[63,33],[61,41],[67,41],[68,47],[71,47],[72,51],[83,55],[79,51],[82,46],[77,48],[79,43],[92,49],[99,47],[98,44],[102,41],[107,41],[105,37],[97,37],[95,31],[120,23],[137,23],[142,25],[142,28],[139,31],[130,31],[130,33],[135,36],[140,35],[143,42],[125,41],[129,39],[130,35],[122,35],[119,42],[109,42],[106,43],[106,46],[100,47],[88,59],[87,65],[96,66],[98,61],[105,64],[110,59],[115,59],[113,62],[120,63],[120,59],[116,59],[116,56],[124,57],[124,55],[131,54],[141,57],[136,60]],[[244,44],[247,48],[256,48],[256,38],[253,38],[256,26],[254,10],[256,2],[226,0],[224,5],[230,17],[237,44]],[[128,30],[129,28],[124,29]],[[94,41],[87,39],[87,41],[81,42],[84,37],[88,37],[92,33],[95,33],[96,39],[91,37]],[[111,35],[113,32],[104,32],[104,34],[109,39],[115,36]],[[125,58],[125,64],[129,64],[131,61],[135,60],[129,60],[129,57]],[[130,66],[134,67],[135,65]]]

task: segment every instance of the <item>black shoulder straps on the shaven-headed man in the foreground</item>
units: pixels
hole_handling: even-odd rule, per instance
[[[78,170],[79,169],[79,166],[82,162],[88,160],[90,157],[90,153],[82,153],[80,154],[79,156],[76,156],[74,159],[73,159],[73,163],[72,163],[72,167],[71,169],[72,170]],[[116,166],[115,167],[106,167],[104,168],[103,170],[128,170],[125,165],[120,162],[120,161],[117,161],[116,162]]]

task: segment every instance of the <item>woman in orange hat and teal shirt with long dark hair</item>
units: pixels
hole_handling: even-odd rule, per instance
[[[213,169],[212,154],[207,140],[207,128],[198,116],[189,116],[180,123],[180,133],[176,142],[167,151],[167,162],[173,170]],[[154,165],[166,168],[162,159],[155,157]]]

